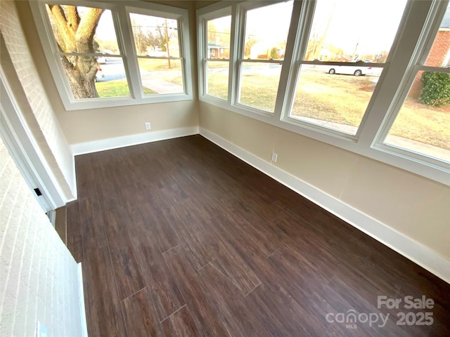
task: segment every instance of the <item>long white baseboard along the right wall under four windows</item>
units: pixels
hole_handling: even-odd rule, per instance
[[[450,283],[450,261],[427,246],[406,237],[384,223],[380,223],[371,216],[354,209],[205,128],[200,128],[200,135]]]

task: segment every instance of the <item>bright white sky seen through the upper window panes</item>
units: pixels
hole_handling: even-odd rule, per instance
[[[311,33],[325,31],[331,16],[326,43],[342,48],[349,55],[354,52],[356,44],[361,55],[388,51],[405,5],[406,0],[318,0]],[[269,43],[285,41],[292,8],[293,1],[287,1],[248,11],[248,34]],[[135,15],[136,22],[146,25],[141,16]],[[229,25],[229,21],[214,20],[217,29],[226,24]],[[115,40],[110,11],[103,12],[96,38]]]

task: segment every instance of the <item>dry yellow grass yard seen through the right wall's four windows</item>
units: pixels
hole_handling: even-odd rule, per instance
[[[320,71],[302,72],[292,115],[359,126],[377,77],[330,75]],[[243,75],[240,102],[274,111],[278,76]],[[208,78],[210,95],[227,97],[228,79],[222,73]],[[427,107],[406,100],[390,135],[450,150],[450,107]]]

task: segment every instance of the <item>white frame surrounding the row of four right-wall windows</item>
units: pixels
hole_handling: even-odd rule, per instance
[[[304,27],[307,22],[309,22],[309,24],[311,23],[313,15],[313,12],[311,12],[311,6],[313,5],[308,4],[309,2],[311,1],[305,0],[294,2],[293,15],[288,34],[288,44],[286,46],[285,59],[281,69],[281,78],[280,83],[278,84],[278,94],[274,114],[264,113],[264,111],[261,110],[251,109],[245,105],[236,104],[236,95],[238,93],[239,85],[239,64],[237,62],[239,54],[237,51],[239,48],[243,48],[242,42],[240,42],[239,46],[238,41],[240,41],[240,39],[238,37],[242,37],[244,34],[243,30],[245,29],[245,20],[242,18],[243,11],[240,8],[257,6],[257,3],[261,3],[259,1],[220,1],[198,10],[198,22],[201,22],[201,18],[206,18],[210,13],[219,11],[223,8],[229,8],[230,6],[232,13],[229,100],[216,100],[211,96],[204,94],[204,67],[202,67],[203,59],[201,57],[201,55],[203,55],[201,48],[203,48],[204,37],[201,34],[202,28],[200,24],[198,26],[199,99],[205,103],[222,107],[252,119],[257,119],[266,124],[271,124],[298,133],[302,136],[307,136],[323,143],[340,147],[356,154],[361,154],[364,157],[382,161],[386,164],[416,173],[445,185],[450,185],[450,166],[446,164],[446,162],[438,160],[435,163],[432,163],[424,155],[418,154],[418,156],[411,156],[411,152],[393,151],[392,149],[386,150],[385,147],[381,147],[375,141],[380,139],[380,130],[386,128],[385,123],[387,123],[388,117],[392,116],[392,104],[396,101],[394,98],[397,99],[397,92],[401,91],[402,88],[406,86],[404,78],[406,77],[406,74],[408,74],[411,64],[414,64],[413,60],[416,55],[416,49],[420,44],[432,44],[432,41],[428,41],[428,35],[425,35],[424,32],[428,27],[427,22],[436,19],[432,18],[434,6],[437,6],[440,2],[447,3],[448,0],[408,1],[387,61],[383,64],[367,64],[372,67],[383,67],[383,73],[378,81],[376,91],[374,91],[372,98],[368,103],[366,113],[361,120],[356,135],[349,135],[340,131],[334,131],[330,128],[323,128],[316,124],[299,121],[298,119],[292,120],[286,118],[288,106],[293,100],[294,84],[296,84],[297,79],[297,71],[294,71],[298,66],[297,55],[300,53],[301,44],[306,43],[304,41],[309,37],[309,26]],[[272,3],[274,2],[270,1],[270,4]],[[264,1],[262,6],[268,4],[269,2]],[[442,4],[441,6],[445,5]],[[436,25],[439,25],[439,23],[440,22]],[[300,35],[300,32],[303,32],[303,36]],[[303,41],[301,41],[301,38]],[[333,62],[320,62],[321,65],[327,63],[333,64]],[[344,65],[345,63],[339,62],[339,64]],[[440,71],[442,71],[442,69]],[[409,90],[409,86],[407,89]]]

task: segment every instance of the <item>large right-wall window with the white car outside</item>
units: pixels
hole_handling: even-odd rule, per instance
[[[312,10],[314,2],[307,3]],[[302,27],[309,36],[299,39],[299,69],[288,116],[356,135],[405,5],[406,0],[383,0],[376,6],[369,1],[317,0],[311,23],[305,21]]]

